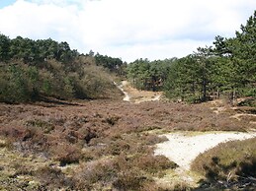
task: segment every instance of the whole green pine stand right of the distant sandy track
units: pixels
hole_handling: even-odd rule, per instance
[[[135,87],[190,102],[256,96],[255,74],[256,11],[234,37],[217,35],[213,46],[199,47],[180,59],[128,64],[128,78]]]

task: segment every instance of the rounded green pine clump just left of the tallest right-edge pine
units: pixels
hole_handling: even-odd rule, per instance
[[[166,96],[188,102],[209,99],[213,88],[213,58],[207,58],[205,51],[199,49],[197,54],[172,65],[165,83]]]

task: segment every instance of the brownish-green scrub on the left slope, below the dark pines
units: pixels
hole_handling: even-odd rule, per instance
[[[73,62],[69,71],[56,60],[30,66],[19,61],[1,67],[0,101],[19,103],[41,100],[44,97],[58,99],[115,98],[121,96],[110,75],[101,67],[81,66],[81,60]]]

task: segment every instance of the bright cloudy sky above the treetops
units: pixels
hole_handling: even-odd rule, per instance
[[[155,60],[233,36],[255,8],[255,0],[0,0],[0,32],[128,62]]]

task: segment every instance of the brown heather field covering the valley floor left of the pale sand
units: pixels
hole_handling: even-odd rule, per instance
[[[0,135],[5,140],[4,148],[34,156],[31,162],[49,161],[37,167],[29,163],[27,167],[17,167],[23,169],[17,170],[18,174],[30,177],[27,184],[37,182],[34,188],[160,190],[154,177],[162,177],[166,169],[175,168],[176,164],[153,155],[154,145],[165,140],[157,133],[244,131],[255,126],[246,118],[230,118],[231,114],[229,110],[216,114],[204,104],[161,101],[0,103]],[[10,160],[19,161],[20,158]],[[12,181],[17,179],[14,174],[6,176]],[[13,184],[15,188],[29,189],[27,184]]]

